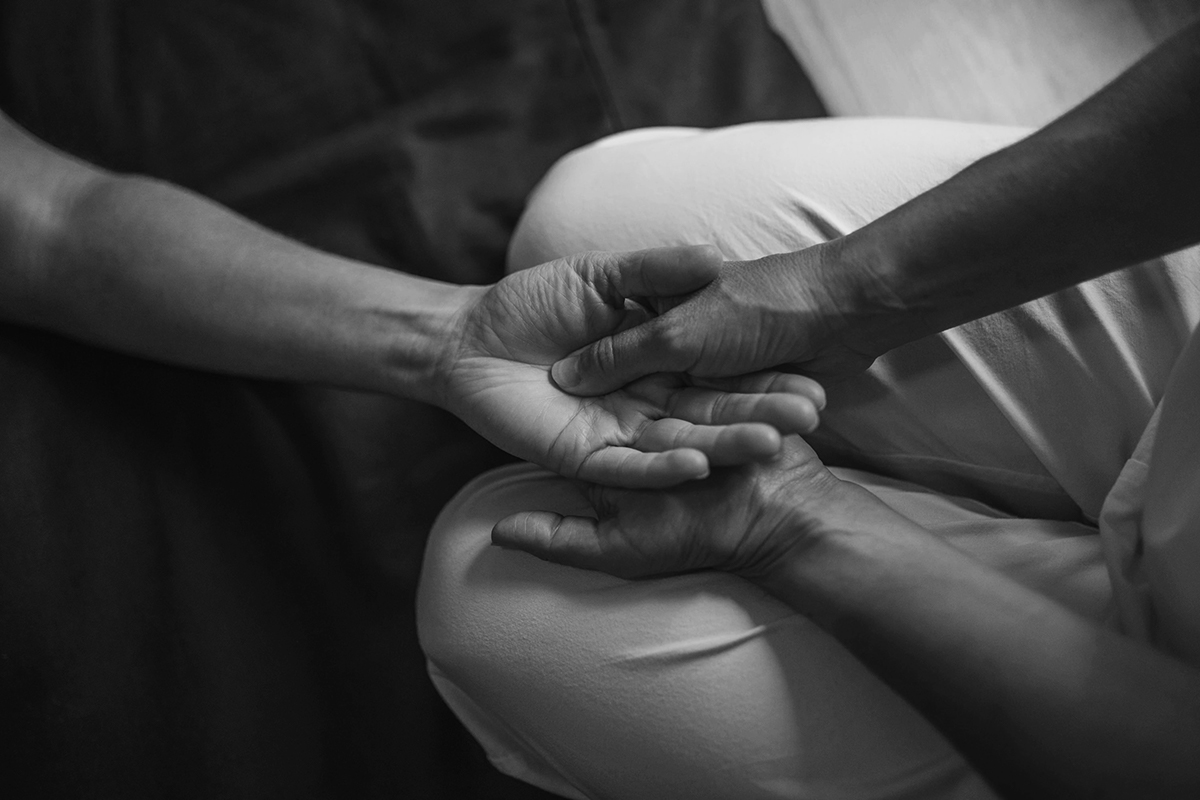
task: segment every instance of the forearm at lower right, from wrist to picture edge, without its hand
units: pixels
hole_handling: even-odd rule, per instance
[[[1200,675],[994,572],[865,492],[763,578],[1009,796],[1198,796]],[[827,515],[838,518],[835,515]]]

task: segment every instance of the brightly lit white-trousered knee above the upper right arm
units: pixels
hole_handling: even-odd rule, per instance
[[[743,260],[809,247],[1024,133],[899,119],[619,133],[547,173],[517,224],[509,270],[588,249],[709,243]]]

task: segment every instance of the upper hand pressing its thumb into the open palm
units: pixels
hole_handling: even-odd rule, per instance
[[[872,347],[869,324],[851,320],[854,309],[845,297],[862,294],[853,283],[864,275],[841,263],[840,240],[731,261],[695,295],[652,296],[658,317],[559,361],[554,383],[574,395],[598,395],[654,372],[700,378],[776,367],[817,378],[862,372],[888,349]],[[866,341],[852,342],[851,333]]]

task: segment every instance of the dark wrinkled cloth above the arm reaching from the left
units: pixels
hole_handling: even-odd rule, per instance
[[[563,154],[822,114],[756,0],[7,0],[0,108],[103,167],[488,283]]]

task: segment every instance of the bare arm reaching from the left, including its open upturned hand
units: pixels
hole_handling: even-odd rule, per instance
[[[686,294],[709,248],[590,253],[457,287],[322,253],[176,186],[114,175],[0,115],[0,319],[139,356],[389,392],[450,409],[572,477],[667,486],[779,450],[816,425],[820,387],[648,378],[580,399],[563,355]]]

